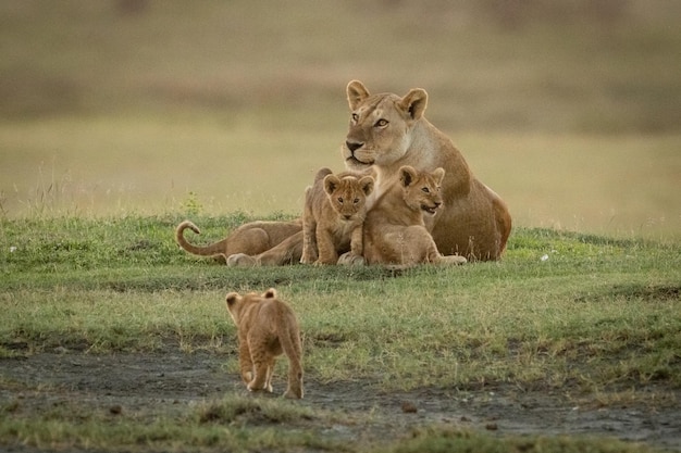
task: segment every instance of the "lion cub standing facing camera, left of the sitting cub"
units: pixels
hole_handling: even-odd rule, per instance
[[[304,264],[336,264],[338,254],[362,255],[362,226],[367,197],[374,179],[356,173],[334,175],[321,168],[305,192],[302,214]]]

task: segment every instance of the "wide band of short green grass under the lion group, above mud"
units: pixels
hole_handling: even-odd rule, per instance
[[[233,348],[223,341],[233,332],[224,293],[276,287],[304,313],[307,366],[321,380],[382,376],[379,385],[393,389],[681,385],[676,242],[516,229],[502,263],[399,276],[380,267],[226,269],[177,250],[179,218],[4,221],[5,352],[15,343],[100,353],[168,341]],[[245,218],[198,222],[210,237]]]

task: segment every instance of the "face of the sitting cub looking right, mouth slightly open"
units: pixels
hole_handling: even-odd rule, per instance
[[[436,168],[434,172],[417,172],[406,165],[399,168],[399,175],[407,205],[414,211],[422,211],[424,215],[435,215],[443,202],[439,185],[445,171]]]

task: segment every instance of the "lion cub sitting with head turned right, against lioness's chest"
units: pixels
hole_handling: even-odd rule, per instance
[[[367,264],[466,263],[463,256],[441,255],[423,222],[424,216],[434,216],[442,206],[439,185],[445,171],[417,172],[405,165],[398,174],[399,181],[387,188],[367,214]]]

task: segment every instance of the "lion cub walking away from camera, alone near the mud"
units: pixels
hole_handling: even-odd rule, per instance
[[[286,398],[302,398],[302,345],[293,310],[270,288],[263,294],[230,292],[227,311],[238,329],[239,368],[249,391],[272,392],[277,355],[288,357]]]

